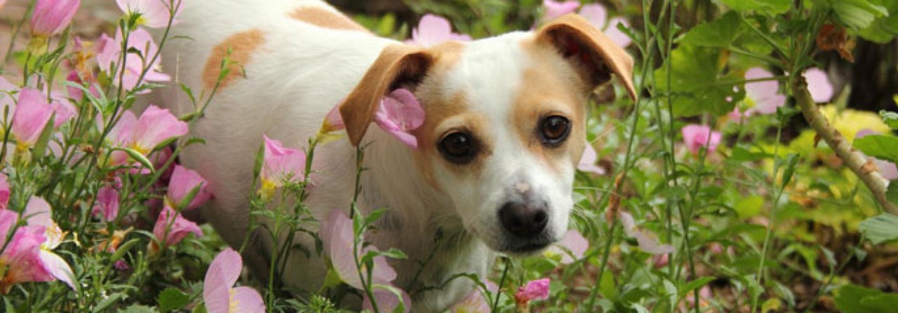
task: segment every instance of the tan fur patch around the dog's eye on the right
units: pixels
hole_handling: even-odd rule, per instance
[[[585,94],[582,81],[555,48],[524,41],[524,51],[531,57],[531,65],[524,69],[524,79],[518,88],[514,112],[510,117],[518,139],[533,155],[550,169],[559,171],[559,158],[565,153],[576,165],[580,161],[585,142]],[[568,139],[558,147],[541,142],[539,124],[542,117],[559,115],[570,120]]]

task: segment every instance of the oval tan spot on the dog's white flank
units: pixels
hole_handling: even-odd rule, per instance
[[[206,67],[203,68],[203,83],[206,88],[215,88],[225,57],[228,57],[233,64],[228,65],[231,72],[222,78],[218,87],[223,88],[234,79],[241,77],[242,66],[250,63],[252,53],[258,50],[264,42],[265,37],[262,31],[252,29],[235,33],[212,48],[212,53],[206,60]]]

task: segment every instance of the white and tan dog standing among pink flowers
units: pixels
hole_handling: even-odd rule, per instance
[[[367,145],[370,170],[357,204],[363,213],[388,210],[365,239],[409,256],[390,262],[397,286],[443,286],[414,294],[415,312],[442,311],[468,295],[473,284],[447,283],[453,274],[486,277],[497,253],[532,255],[561,239],[585,149],[588,96],[614,75],[636,97],[631,57],[573,14],[538,30],[424,48],[377,37],[321,1],[182,5],[170,36],[188,39],[166,43],[163,70],[194,91],[216,89],[189,134],[206,143],[180,155],[215,190],[203,208],[207,221],[239,247],[262,135],[302,147],[339,104],[348,140],[316,150],[305,204],[319,221],[348,210],[356,146]],[[242,67],[219,82],[225,57]],[[380,100],[397,88],[413,92],[426,112],[412,132],[417,148],[370,126]],[[180,88],[157,93],[176,113],[194,110]],[[314,248],[311,236],[280,240],[286,236]],[[264,237],[244,251],[260,278],[280,243]],[[297,252],[279,279],[302,296],[320,288],[326,272],[321,256]]]

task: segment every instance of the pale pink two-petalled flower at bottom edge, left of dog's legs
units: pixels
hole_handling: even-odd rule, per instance
[[[212,259],[203,280],[203,301],[209,313],[265,312],[259,291],[245,286],[231,288],[242,269],[243,260],[232,248],[225,248]]]

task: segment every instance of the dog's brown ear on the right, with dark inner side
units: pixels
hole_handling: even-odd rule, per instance
[[[627,88],[629,97],[636,100],[631,78],[633,58],[583,17],[568,14],[546,23],[537,30],[536,41],[554,46],[562,56],[575,62],[589,91],[611,80],[613,72]]]

